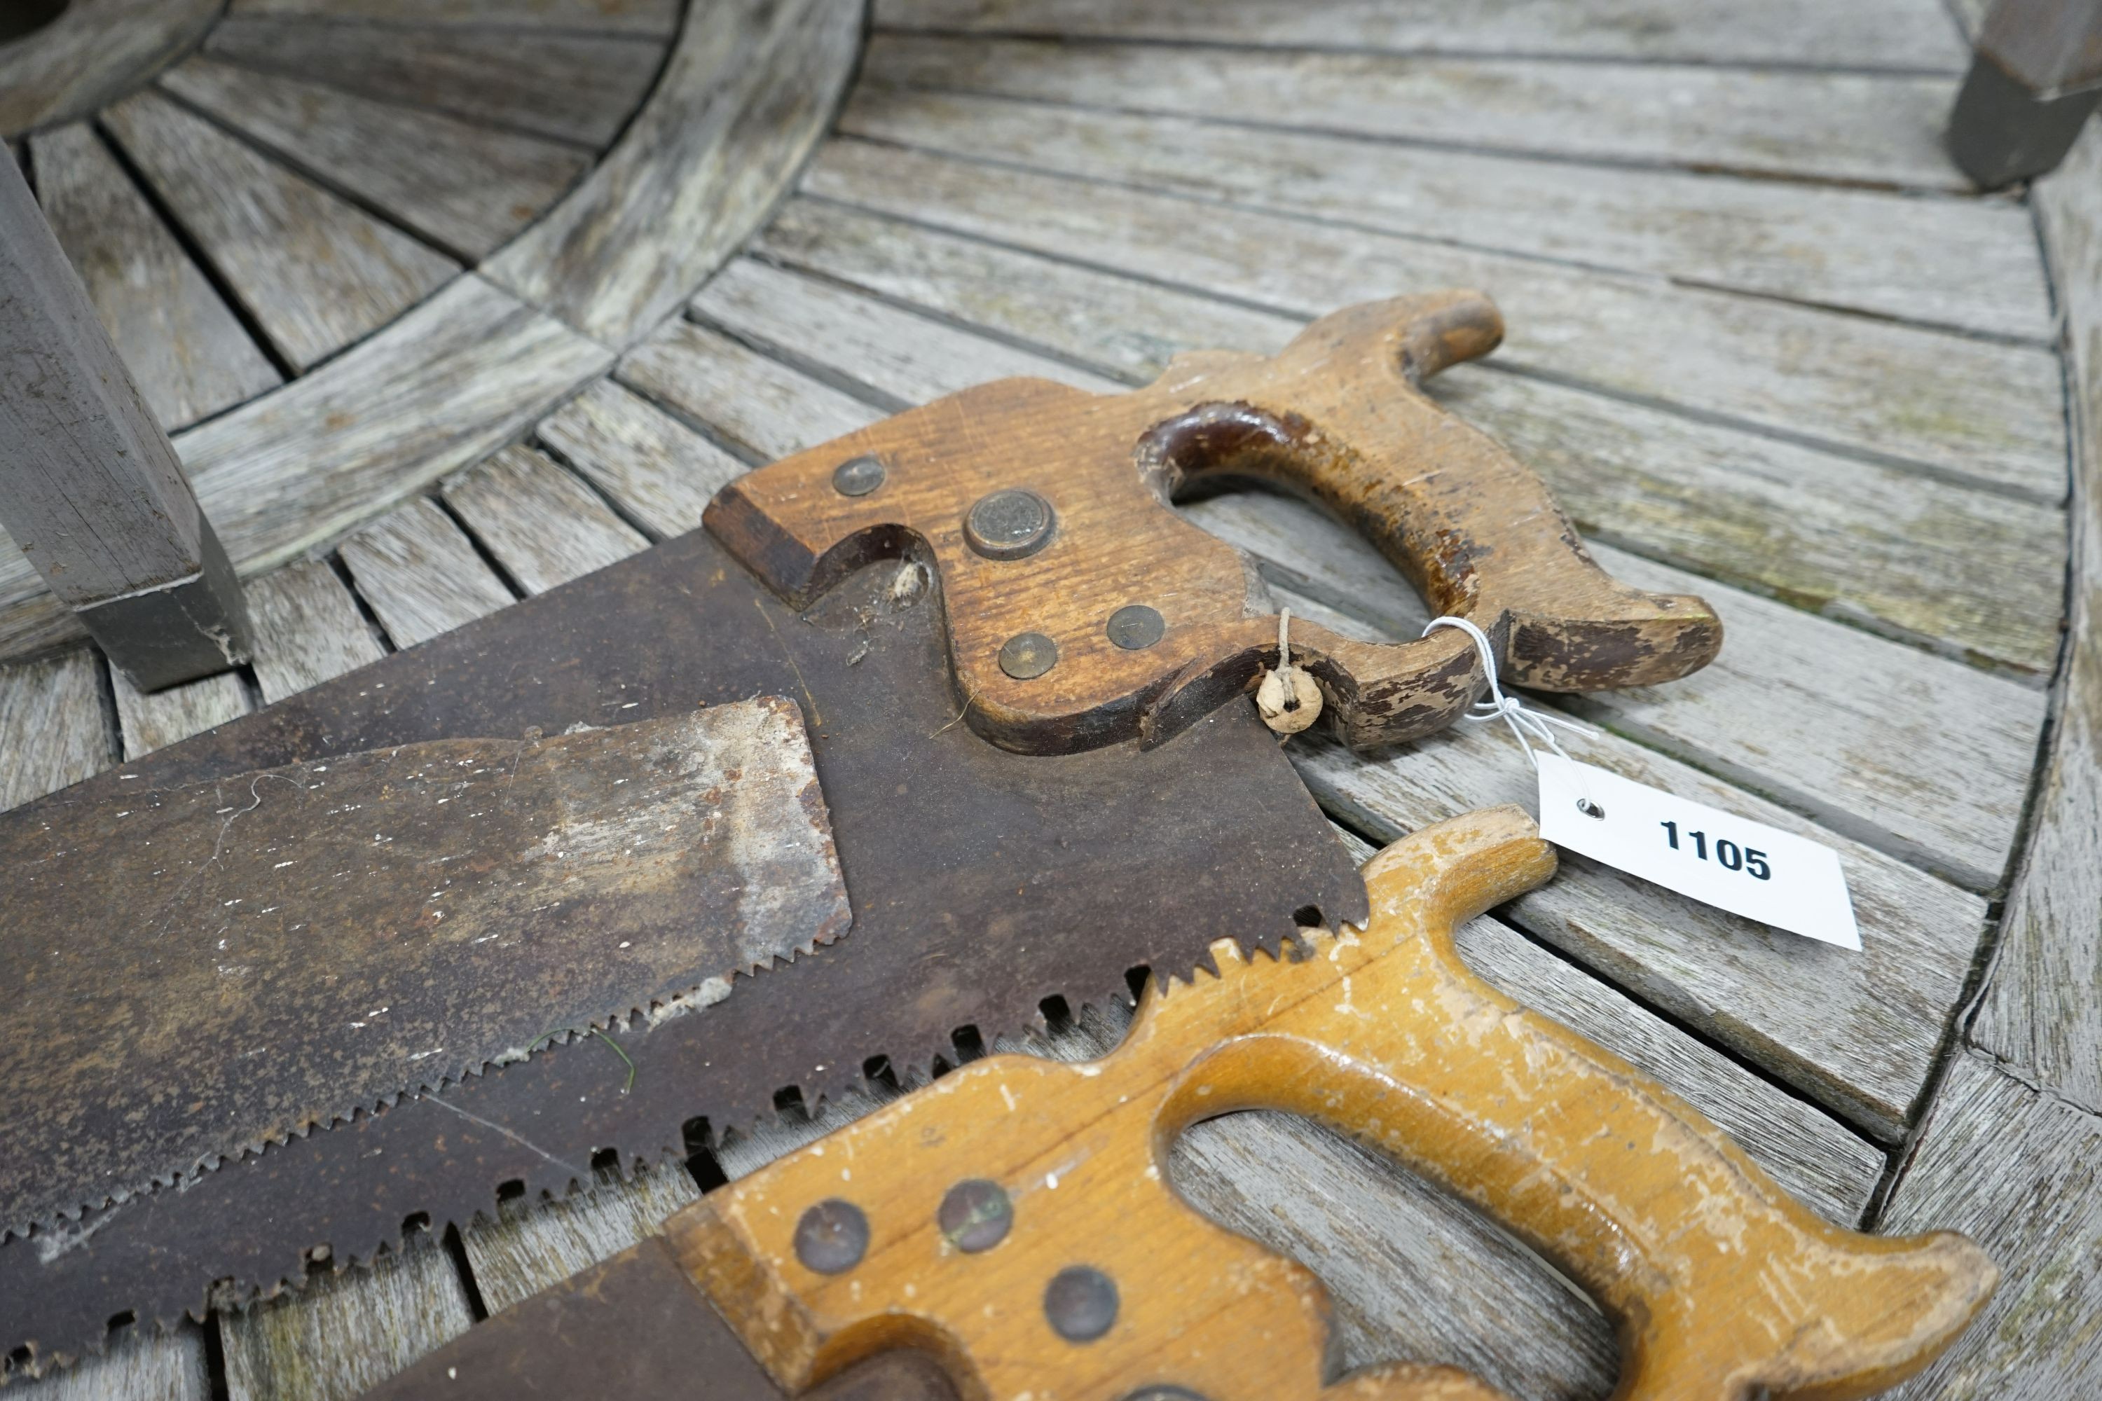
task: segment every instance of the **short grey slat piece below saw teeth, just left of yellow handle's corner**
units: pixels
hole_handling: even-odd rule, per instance
[[[490,1313],[502,1313],[654,1235],[696,1197],[700,1189],[685,1166],[666,1162],[628,1180],[601,1170],[595,1185],[559,1201],[504,1201],[496,1220],[477,1220],[460,1233],[475,1292]]]

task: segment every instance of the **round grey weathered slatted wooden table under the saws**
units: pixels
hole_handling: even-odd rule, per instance
[[[139,695],[0,540],[0,807],[692,529],[744,466],[885,412],[1003,374],[1143,382],[1471,284],[1509,342],[1440,395],[1614,573],[1730,628],[1686,683],[1570,702],[1595,725],[1572,748],[1839,846],[1864,947],[1570,859],[1465,952],[1825,1214],[1993,1250],[1999,1298],[1907,1395],[2102,1390],[2102,134],[2026,193],[1967,193],[1938,128],[1972,6],[181,8],[126,48],[78,25],[141,6],[76,0],[27,40],[65,63],[0,50],[0,113],[38,128],[44,210],[263,653]],[[1303,615],[1421,626],[1293,502],[1190,513]],[[1347,840],[1528,783],[1480,731],[1295,752]],[[1080,1021],[1066,1052],[1116,1033]],[[355,1395],[853,1111],[492,1199],[15,1395]],[[1612,1384],[1583,1296],[1322,1130],[1207,1124],[1177,1180],[1326,1279],[1352,1363]]]

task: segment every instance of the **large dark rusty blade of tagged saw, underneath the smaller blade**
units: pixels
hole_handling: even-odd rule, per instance
[[[1125,996],[1133,966],[1183,975],[1221,937],[1276,949],[1295,920],[1366,916],[1347,853],[1253,710],[1230,706],[1148,750],[998,750],[959,723],[933,588],[921,565],[885,561],[797,613],[692,534],[0,817],[67,846],[67,804],[130,788],[786,695],[853,916],[847,937],[738,977],[719,1004],[624,1031],[633,1080],[584,1040],[282,1143],[286,1120],[261,1115],[225,1132],[265,1147],[214,1170],[191,1172],[189,1143],[126,1157],[130,1180],[69,1162],[0,1201],[11,1222],[34,1218],[34,1201],[71,1204],[0,1243],[0,1346],[17,1348],[15,1365],[78,1357],[114,1317],[168,1323],[298,1281],[311,1260],[370,1258],[408,1222],[465,1225],[492,1214],[504,1185],[561,1193],[595,1159],[685,1153],[784,1090],[816,1105],[885,1061],[925,1069],[956,1057],[961,1027],[992,1042],[1036,1025],[1047,998]],[[210,1017],[202,1025],[210,1036]],[[271,1036],[275,1057],[307,1057],[296,1019]],[[229,1057],[252,1044],[244,1027],[219,1038]],[[84,1092],[36,1054],[13,1065],[15,1107]],[[6,1168],[8,1183],[38,1176]]]

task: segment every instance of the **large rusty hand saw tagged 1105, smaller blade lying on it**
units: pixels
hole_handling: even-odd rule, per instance
[[[1698,599],[1604,576],[1421,395],[1499,334],[1452,292],[1127,395],[965,391],[746,475],[704,531],[0,817],[15,1365],[961,1059],[1219,939],[1360,920],[1240,702],[1278,620],[1173,496],[1314,496],[1524,685],[1646,685],[1722,639]],[[1482,687],[1450,632],[1289,645],[1360,746]]]

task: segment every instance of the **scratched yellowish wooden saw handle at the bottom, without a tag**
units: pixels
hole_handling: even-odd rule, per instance
[[[1518,809],[1366,867],[1371,924],[1158,981],[1122,1046],[990,1057],[675,1216],[685,1269],[790,1393],[889,1346],[967,1397],[1492,1397],[1396,1365],[1324,1390],[1326,1296],[1167,1180],[1196,1120],[1333,1124],[1505,1222],[1619,1321],[1625,1399],[1860,1397],[1938,1355],[1997,1271],[1961,1235],[1827,1225],[1644,1073],[1516,1006],[1452,928],[1553,872]],[[1150,1390],[1158,1388],[1158,1390]],[[1179,1388],[1179,1390],[1177,1390]]]

